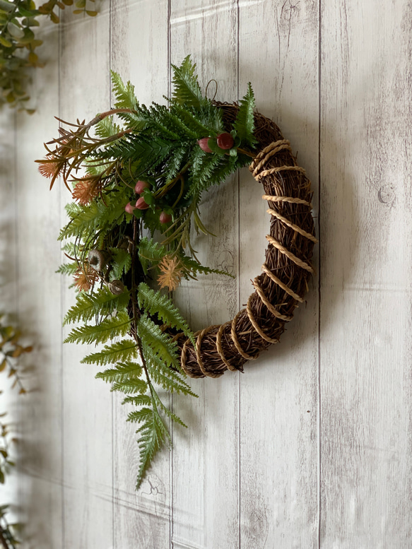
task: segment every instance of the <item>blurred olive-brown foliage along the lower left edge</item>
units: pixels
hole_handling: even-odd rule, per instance
[[[25,388],[18,371],[18,360],[21,355],[30,353],[31,346],[23,346],[20,343],[20,331],[13,326],[8,326],[0,317],[0,372],[13,378],[12,387],[18,387],[20,394],[25,394]],[[0,391],[1,393],[1,391]],[[14,462],[10,457],[11,437],[10,426],[4,423],[6,412],[0,414],[0,484],[6,481],[6,474]],[[7,520],[8,505],[0,506],[0,545],[4,549],[16,549],[18,539],[18,524],[10,524]]]

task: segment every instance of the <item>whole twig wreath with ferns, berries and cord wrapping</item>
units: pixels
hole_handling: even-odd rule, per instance
[[[194,395],[185,377],[243,371],[277,343],[313,272],[310,181],[278,126],[254,112],[248,85],[239,104],[201,93],[190,57],[172,65],[167,106],[139,104],[131,83],[112,72],[116,102],[91,122],[60,121],[40,163],[52,188],[61,176],[74,201],[59,240],[78,293],[64,324],[68,343],[106,343],[82,362],[106,367],[98,378],[134,405],[139,488],[156,451],[170,440],[165,420],[184,425],[164,403],[167,391]],[[191,227],[204,191],[249,166],[271,214],[266,260],[254,292],[235,318],[193,333],[170,299],[182,278],[225,271],[204,266]],[[113,341],[114,340],[114,341]],[[110,341],[110,343],[107,343]]]

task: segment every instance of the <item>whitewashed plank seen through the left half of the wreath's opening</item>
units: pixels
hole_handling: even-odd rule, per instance
[[[170,16],[172,63],[192,54],[201,88],[218,82],[218,100],[237,97],[236,1],[178,0]],[[211,91],[213,97],[213,86]],[[202,263],[237,274],[237,177],[204,196],[201,218],[218,237],[195,237]],[[192,328],[229,320],[237,312],[237,281],[199,277],[184,284],[177,302]],[[238,376],[193,380],[199,400],[175,398],[175,412],[189,425],[174,430],[174,548],[238,546]]]

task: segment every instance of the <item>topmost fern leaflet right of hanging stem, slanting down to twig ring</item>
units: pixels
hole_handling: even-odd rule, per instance
[[[194,344],[194,334],[192,330],[189,329],[187,321],[184,320],[179,309],[173,305],[167,295],[155,292],[149,288],[146,283],[142,282],[139,284],[137,299],[139,307],[145,309],[152,316],[157,314],[158,318],[163,320],[164,324],[168,324],[169,326],[182,331]]]

